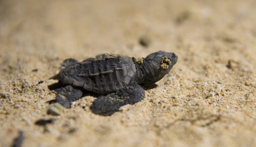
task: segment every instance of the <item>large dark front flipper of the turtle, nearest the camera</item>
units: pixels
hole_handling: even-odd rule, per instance
[[[145,97],[145,92],[140,85],[127,86],[115,93],[96,98],[90,109],[98,115],[111,115],[121,106],[134,104]]]

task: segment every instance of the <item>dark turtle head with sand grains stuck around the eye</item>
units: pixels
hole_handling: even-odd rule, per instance
[[[155,83],[159,81],[165,74],[170,72],[177,59],[178,56],[173,52],[158,51],[149,54],[144,59],[144,66],[147,69],[144,82]]]

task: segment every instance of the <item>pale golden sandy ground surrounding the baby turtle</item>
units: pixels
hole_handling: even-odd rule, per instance
[[[143,101],[46,113],[65,58],[158,50],[179,60]],[[256,147],[255,56],[255,0],[0,0],[0,146]]]

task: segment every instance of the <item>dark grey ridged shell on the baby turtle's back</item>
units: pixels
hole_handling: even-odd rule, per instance
[[[83,87],[99,94],[115,92],[128,85],[136,73],[134,62],[129,57],[101,55],[63,69],[65,84]]]

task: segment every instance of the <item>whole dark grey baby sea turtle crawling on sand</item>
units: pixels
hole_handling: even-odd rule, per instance
[[[100,95],[90,107],[92,112],[111,115],[123,105],[142,100],[145,93],[139,84],[159,81],[177,58],[172,52],[158,51],[138,59],[117,54],[101,54],[80,63],[66,59],[56,75],[63,85],[55,90],[56,102],[70,108],[71,102],[90,91]]]

